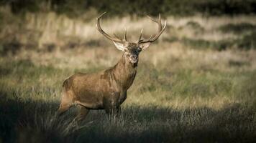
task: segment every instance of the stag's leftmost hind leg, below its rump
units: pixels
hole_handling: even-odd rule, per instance
[[[58,109],[58,115],[63,114],[64,112],[68,111],[70,107],[73,105],[73,92],[72,91],[65,91],[63,89],[63,97],[60,102],[60,107]]]

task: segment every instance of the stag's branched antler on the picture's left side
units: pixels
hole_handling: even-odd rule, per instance
[[[96,24],[96,27],[97,27],[97,29],[99,30],[99,32],[100,32],[101,34],[103,34],[104,36],[106,36],[106,38],[109,39],[109,40],[111,40],[111,41],[117,41],[117,42],[121,42],[121,43],[124,42],[124,41],[127,41],[127,31],[126,31],[126,29],[125,29],[125,34],[124,34],[124,39],[123,39],[123,40],[122,40],[122,39],[119,39],[117,36],[116,36],[116,38],[115,38],[115,37],[112,37],[112,36],[110,36],[109,34],[106,34],[106,32],[101,29],[100,19],[101,19],[102,16],[104,16],[104,14],[106,14],[106,12],[104,12],[104,13],[101,14],[99,17],[97,17],[97,24]]]

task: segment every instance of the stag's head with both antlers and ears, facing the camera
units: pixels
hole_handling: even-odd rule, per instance
[[[164,26],[162,26],[162,24],[161,24],[160,14],[159,14],[159,19],[153,19],[152,17],[147,16],[149,19],[151,19],[152,21],[157,23],[157,25],[158,25],[157,34],[150,36],[149,39],[142,39],[142,32],[143,32],[143,29],[142,29],[140,32],[139,39],[135,42],[130,42],[130,41],[127,41],[127,30],[126,29],[125,29],[123,39],[119,39],[119,37],[116,35],[114,35],[115,37],[112,37],[109,34],[106,34],[106,32],[101,29],[100,19],[102,16],[104,16],[104,14],[106,14],[106,12],[104,12],[97,18],[97,24],[96,24],[97,29],[99,30],[99,32],[101,34],[106,36],[107,39],[113,41],[113,43],[117,49],[124,51],[124,57],[125,57],[126,61],[129,61],[132,64],[135,64],[138,62],[140,51],[147,49],[147,47],[149,47],[153,41],[156,41],[158,39],[158,37],[163,33],[163,31],[165,30],[165,27],[166,27],[166,20],[165,20]]]

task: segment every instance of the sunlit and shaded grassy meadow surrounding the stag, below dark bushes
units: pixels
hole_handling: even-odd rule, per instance
[[[0,142],[255,142],[256,17],[164,17],[168,28],[140,54],[119,119],[76,106],[56,115],[63,81],[121,58],[111,41],[81,21],[50,13],[18,17],[1,8]],[[157,27],[145,17],[102,21],[135,40]]]

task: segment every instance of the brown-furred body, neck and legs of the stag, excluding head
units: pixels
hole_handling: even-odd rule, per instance
[[[74,74],[63,82],[63,98],[58,113],[62,114],[73,104],[80,105],[79,120],[86,117],[90,109],[118,113],[136,72],[137,63],[130,63],[123,54],[122,59],[109,69],[93,74]]]

